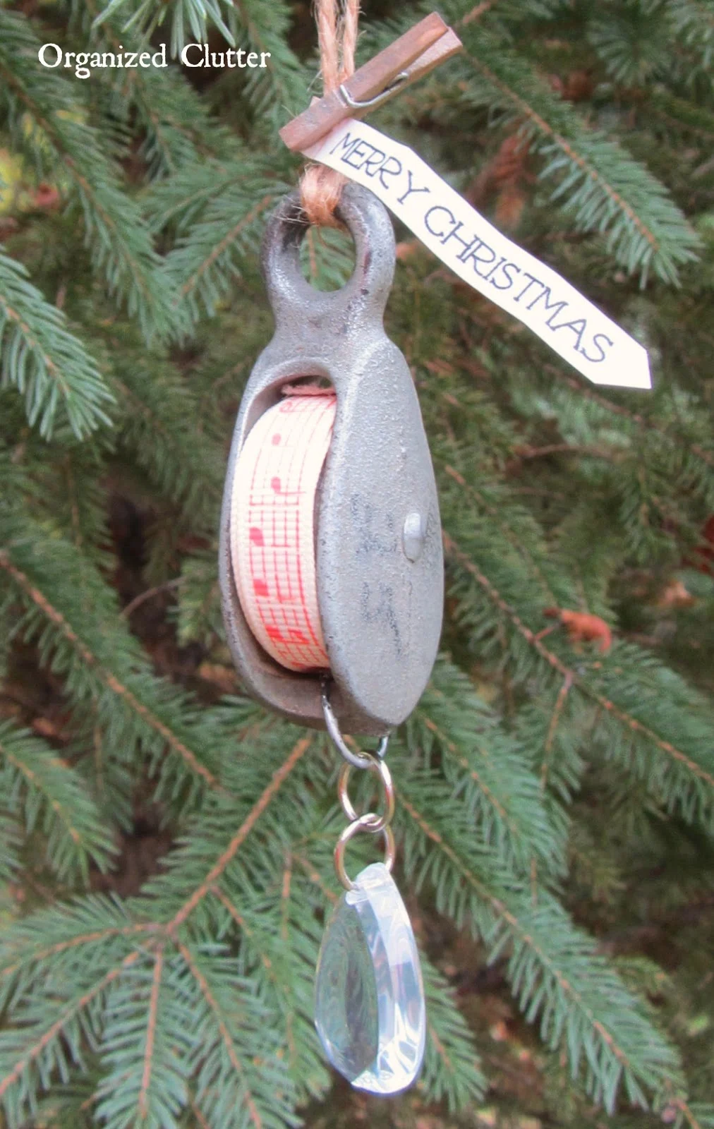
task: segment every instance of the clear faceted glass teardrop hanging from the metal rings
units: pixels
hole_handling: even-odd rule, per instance
[[[328,921],[315,1026],[330,1062],[357,1089],[397,1094],[419,1074],[426,1038],[419,954],[383,863],[362,870]]]

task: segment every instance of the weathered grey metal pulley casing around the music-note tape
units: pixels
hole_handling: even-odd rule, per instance
[[[220,588],[228,645],[252,694],[295,721],[322,728],[329,675],[339,726],[380,735],[411,712],[436,657],[442,535],[416,390],[383,327],[394,272],[392,224],[376,196],[354,184],[345,187],[337,215],[352,236],[356,265],[336,291],[315,290],[301,272],[308,224],[297,192],[284,198],[268,225],[262,262],[276,330],[236,420],[220,522]],[[285,506],[307,501],[314,531],[310,563],[328,668],[322,662],[297,671],[261,646],[246,618],[235,515],[238,502],[261,505],[251,497],[254,474],[246,471],[252,429],[286,391],[299,397],[302,388],[316,392],[320,384],[334,394],[333,426],[316,488],[310,488],[314,497],[278,499]],[[259,428],[254,438],[261,435]],[[255,535],[262,544],[262,533]],[[286,536],[281,552],[289,555],[294,546]],[[296,567],[299,571],[299,561]]]

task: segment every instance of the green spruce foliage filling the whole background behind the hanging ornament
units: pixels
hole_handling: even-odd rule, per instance
[[[427,10],[365,2],[360,58]],[[338,893],[334,756],[244,695],[216,581],[312,17],[288,0],[0,8],[12,1129],[714,1126],[714,7],[441,10],[464,54],[375,124],[635,334],[654,391],[587,385],[398,233],[388,330],[447,566],[444,654],[390,754],[429,1040],[411,1095],[338,1089],[325,1112],[312,980]],[[149,38],[228,40],[271,67],[82,81],[37,62],[43,42]],[[315,285],[349,264],[339,234],[311,234]],[[611,648],[554,607],[601,618]]]

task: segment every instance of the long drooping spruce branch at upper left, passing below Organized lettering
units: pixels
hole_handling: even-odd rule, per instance
[[[35,65],[38,47],[21,16],[0,10],[0,75],[16,143],[40,167],[47,165],[49,145],[54,166],[69,177],[81,204],[93,265],[103,270],[110,294],[125,300],[145,336],[166,336],[172,325],[168,290],[139,208],[123,191],[97,131],[76,120],[67,81]],[[34,130],[23,126],[21,112]]]

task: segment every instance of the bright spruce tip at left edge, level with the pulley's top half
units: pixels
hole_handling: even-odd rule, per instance
[[[55,417],[66,414],[84,438],[108,423],[112,394],[95,360],[67,329],[67,318],[28,281],[27,271],[0,250],[0,345],[2,384],[25,395],[31,425],[50,438]]]

